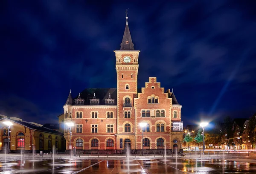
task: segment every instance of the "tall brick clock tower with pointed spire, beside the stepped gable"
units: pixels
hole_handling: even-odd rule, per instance
[[[126,13],[125,32],[120,50],[116,54],[117,74],[117,148],[123,148],[124,140],[135,141],[134,98],[137,97],[138,50],[134,50]],[[130,126],[130,127],[129,127]]]

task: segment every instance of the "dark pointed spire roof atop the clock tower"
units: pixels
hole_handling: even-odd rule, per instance
[[[126,18],[125,32],[122,39],[120,50],[134,50],[134,44],[132,43],[132,40],[131,40],[131,33],[129,30],[128,21],[127,21],[128,19],[127,13],[125,18]]]

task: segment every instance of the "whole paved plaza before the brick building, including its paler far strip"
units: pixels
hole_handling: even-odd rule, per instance
[[[4,174],[255,174],[254,157],[227,159],[228,156],[178,158],[131,156],[81,156],[65,155],[60,158],[55,154],[35,159],[28,155],[0,155],[0,173]],[[33,160],[34,159],[34,160]]]

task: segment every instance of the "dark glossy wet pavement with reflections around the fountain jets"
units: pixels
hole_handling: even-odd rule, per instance
[[[21,163],[21,164],[20,164]],[[0,163],[5,174],[255,174],[256,164],[232,160],[17,160]]]

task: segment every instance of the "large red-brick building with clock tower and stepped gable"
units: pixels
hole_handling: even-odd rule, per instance
[[[115,50],[116,88],[86,88],[74,99],[70,94],[59,123],[73,122],[71,145],[89,149],[179,149],[182,146],[181,105],[173,91],[164,90],[156,77],[137,88],[139,53],[126,21],[121,48]],[[113,65],[114,68],[114,65]],[[139,123],[147,123],[142,140]],[[66,148],[70,129],[64,128]]]

